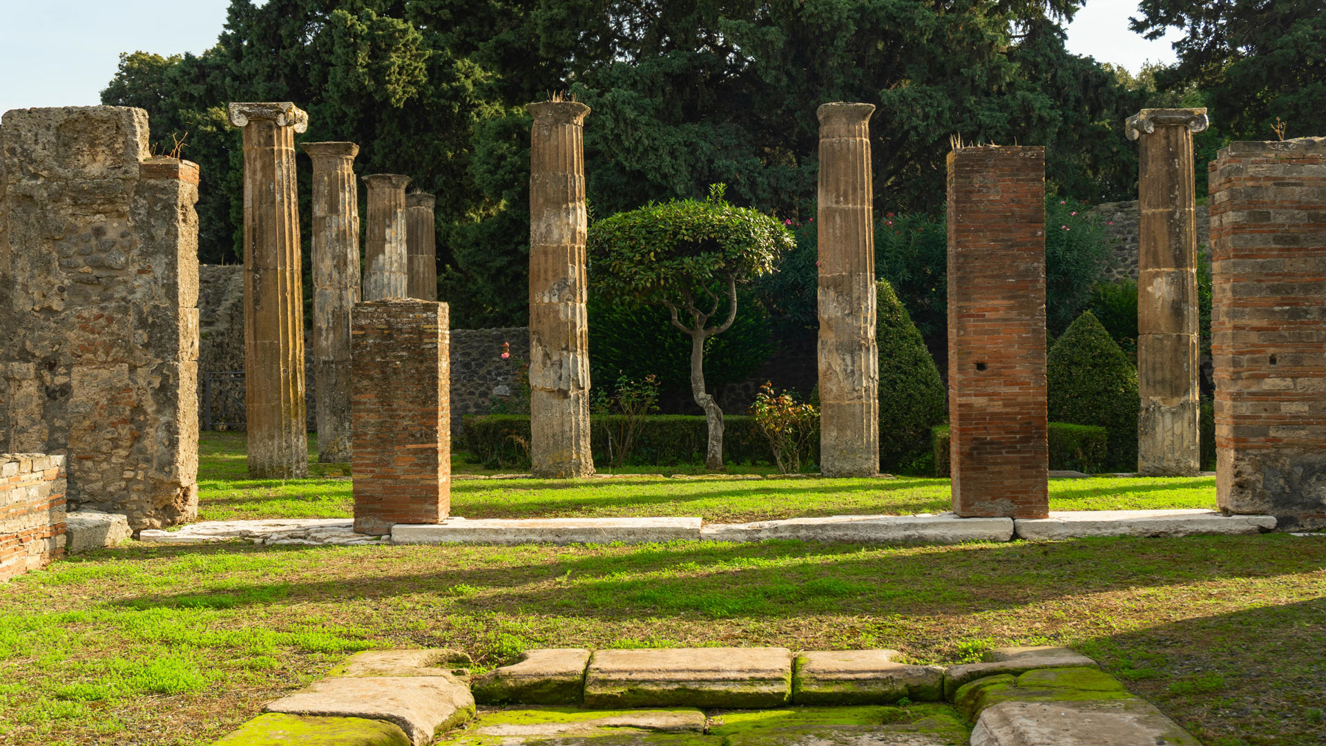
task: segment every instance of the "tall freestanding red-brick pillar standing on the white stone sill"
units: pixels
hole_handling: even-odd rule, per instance
[[[1045,149],[948,154],[953,512],[1049,512]]]

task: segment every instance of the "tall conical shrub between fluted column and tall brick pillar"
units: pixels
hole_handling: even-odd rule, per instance
[[[930,427],[944,421],[944,382],[894,288],[875,288],[879,345],[879,469],[896,471],[926,451]]]

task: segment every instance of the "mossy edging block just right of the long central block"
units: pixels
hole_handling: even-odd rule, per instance
[[[894,662],[898,650],[808,650],[797,654],[792,701],[798,705],[882,705],[903,697],[944,698],[944,668]]]

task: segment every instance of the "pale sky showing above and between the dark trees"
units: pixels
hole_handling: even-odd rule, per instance
[[[216,42],[227,7],[229,0],[0,0],[0,113],[98,104],[121,52],[198,54]],[[1069,49],[1132,72],[1147,60],[1172,62],[1168,40],[1128,31],[1135,13],[1136,0],[1089,0],[1069,27]]]

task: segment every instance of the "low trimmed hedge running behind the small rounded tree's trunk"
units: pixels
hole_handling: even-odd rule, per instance
[[[594,463],[610,463],[607,431],[603,425],[621,421],[617,414],[590,417],[590,447]],[[463,447],[475,454],[488,469],[529,467],[529,415],[467,415]],[[644,427],[635,449],[626,458],[629,466],[680,466],[704,463],[709,431],[704,417],[688,414],[654,414],[644,418]],[[723,417],[723,459],[728,463],[773,463],[769,441],[754,423],[754,417]],[[819,462],[819,438],[813,438],[808,463]]]

